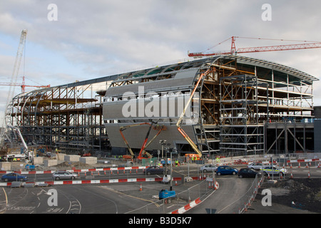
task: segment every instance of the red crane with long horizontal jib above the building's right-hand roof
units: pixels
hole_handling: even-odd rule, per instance
[[[225,41],[232,40],[230,46],[230,52],[223,52],[223,53],[189,53],[189,57],[200,58],[203,56],[217,56],[217,55],[235,55],[237,53],[253,53],[253,52],[264,52],[264,51],[290,51],[290,50],[300,50],[300,49],[310,49],[310,48],[321,48],[321,42],[317,41],[300,41],[305,43],[298,43],[298,44],[288,44],[288,45],[277,45],[277,46],[260,46],[260,47],[251,47],[251,48],[238,48],[235,47],[235,38],[250,38],[250,37],[239,37],[239,36],[232,36],[231,38],[226,39]],[[264,39],[264,40],[274,40],[274,41],[291,41],[291,40],[282,40],[282,39],[272,39],[272,38],[253,38],[253,39]],[[223,41],[223,42],[225,42]],[[215,46],[223,43],[220,42]],[[213,46],[213,47],[215,47]],[[212,47],[212,48],[213,48]],[[208,48],[210,50],[211,48]],[[207,50],[207,51],[208,51]]]

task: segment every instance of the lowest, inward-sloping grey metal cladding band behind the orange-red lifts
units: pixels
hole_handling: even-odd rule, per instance
[[[112,147],[126,147],[123,138],[121,137],[121,133],[119,132],[119,128],[121,126],[126,126],[128,123],[122,124],[106,124],[106,130],[108,132],[108,138],[111,142]],[[158,137],[151,142],[146,150],[161,150],[161,144],[159,140],[167,140],[170,143],[171,147],[175,146],[175,142],[188,144],[188,142],[183,138],[182,135],[178,132],[178,129],[175,125],[167,125],[165,126],[166,130],[161,131]],[[123,135],[125,136],[128,145],[131,148],[140,149],[143,145],[143,142],[146,138],[146,134],[148,132],[149,125],[141,125],[132,128],[128,128],[123,130]],[[195,137],[193,137],[193,126],[183,126],[182,127],[185,133],[187,133],[190,138],[195,142]],[[148,137],[148,142],[158,133],[158,130],[151,130],[151,133]],[[196,143],[196,142],[195,142]]]

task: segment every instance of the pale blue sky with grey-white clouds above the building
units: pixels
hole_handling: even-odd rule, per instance
[[[320,9],[318,0],[1,1],[0,83],[11,81],[23,29],[17,83],[25,76],[26,85],[58,86],[188,58],[188,51],[229,51],[230,41],[216,45],[231,36],[321,41]],[[302,42],[238,38],[236,47],[292,43]],[[243,55],[320,78],[321,48]],[[8,90],[0,86],[0,110]],[[314,95],[321,105],[320,81]]]

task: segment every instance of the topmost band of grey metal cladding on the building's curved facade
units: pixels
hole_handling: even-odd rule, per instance
[[[110,87],[106,91],[106,97],[121,96],[126,92],[138,93],[139,87],[143,86],[145,92],[159,92],[165,90],[182,90],[193,86],[193,81],[198,70],[183,71],[177,73],[174,78],[148,81],[125,86]],[[131,78],[135,79],[135,78]]]

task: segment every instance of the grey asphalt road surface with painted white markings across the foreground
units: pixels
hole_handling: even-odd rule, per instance
[[[191,165],[190,176],[203,175],[198,171],[200,165]],[[240,168],[240,167],[238,167]],[[290,177],[292,172],[295,178],[321,177],[321,169],[317,167],[287,167]],[[173,176],[183,177],[188,175],[187,166],[175,167]],[[206,175],[210,175],[207,173]],[[51,175],[28,175],[29,180],[51,181]],[[81,174],[79,179],[121,179],[146,177],[142,170],[138,173],[113,173],[113,175],[101,172]],[[151,175],[148,177],[161,177],[161,175]],[[271,177],[272,178],[272,177]],[[275,178],[279,178],[275,176]],[[197,207],[190,209],[188,214],[208,214],[208,213],[238,213],[240,204],[238,199],[245,195],[253,178],[240,179],[237,176],[220,176],[216,177],[220,188],[210,195],[205,201]],[[178,183],[175,189],[183,191],[190,187],[191,184],[197,184],[193,181],[189,185]],[[1,187],[0,190],[0,211],[6,214],[124,214],[134,209],[151,204],[153,195],[158,195],[159,190],[164,187],[159,182],[144,182],[143,191],[139,191],[141,183],[118,183],[108,185],[53,185],[51,187],[20,187],[10,188]],[[49,205],[49,199],[52,197],[51,191],[56,190],[57,205]],[[52,199],[52,198],[51,198]],[[184,205],[185,202],[179,202]],[[158,209],[159,213],[165,212],[165,209],[172,207],[165,204],[151,204],[153,209]],[[166,208],[165,208],[166,207]],[[145,213],[145,211],[143,211]]]

